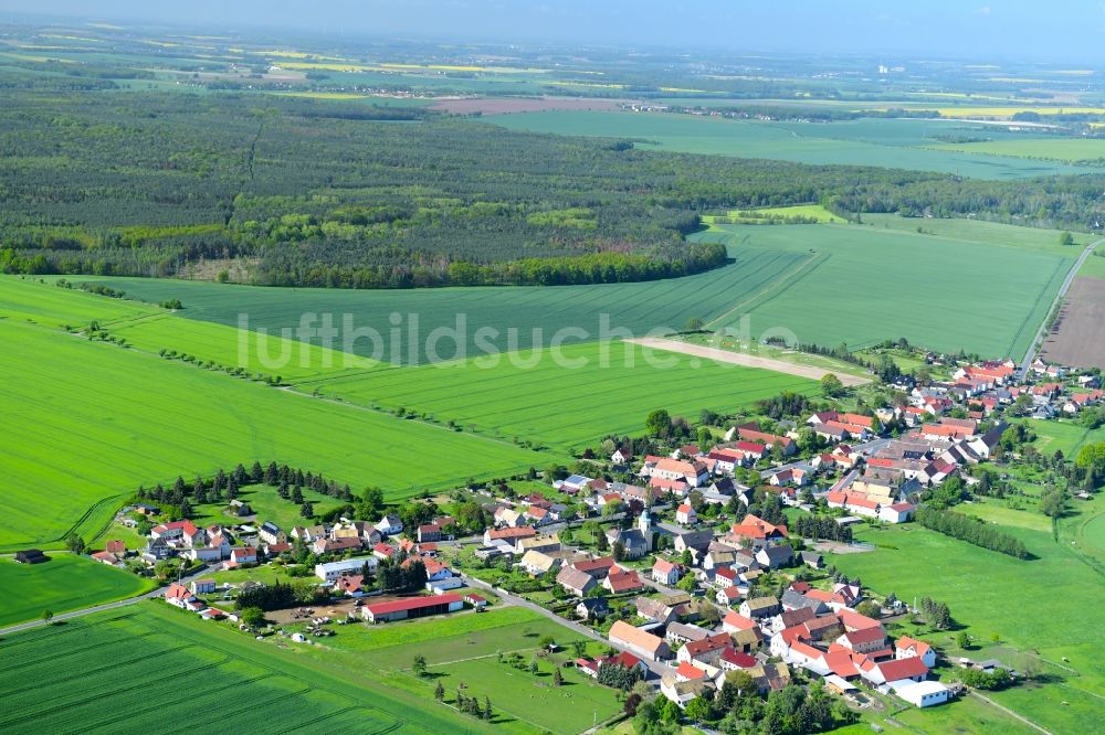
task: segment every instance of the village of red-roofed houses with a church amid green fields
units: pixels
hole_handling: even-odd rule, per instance
[[[1048,422],[1105,397],[1096,374],[1039,362],[1030,381],[1017,379],[1012,362],[947,373],[925,385],[896,377],[903,405],[811,411],[771,430],[745,420],[711,445],[662,455],[615,446],[576,466],[594,471],[546,472],[517,483],[523,491],[508,481],[470,488],[463,498],[483,528],[446,513],[420,513],[413,528],[397,512],[292,528],[181,519],[154,524],[140,550],[109,541],[92,556],[149,567],[177,560],[168,604],[260,640],[312,645],[340,636],[335,626],[516,605],[608,645],[606,656],[573,659],[580,672],[622,689],[643,681],[683,711],[734,681],[765,695],[820,682],[856,711],[874,693],[940,705],[965,681],[1004,686],[1018,673],[892,635],[898,621],[932,622],[939,604],[926,599],[922,609],[866,589],[835,572],[832,555],[863,553],[857,525],[908,523],[945,483],[979,483],[972,469],[1009,450],[1014,411]],[[125,511],[160,515],[145,502]],[[266,567],[283,571],[295,594],[263,610],[243,605],[271,589],[250,578]],[[215,573],[243,576],[220,583]]]

